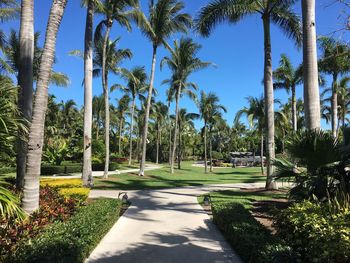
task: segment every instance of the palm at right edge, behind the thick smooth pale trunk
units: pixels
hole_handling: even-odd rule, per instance
[[[332,76],[331,124],[332,134],[337,136],[338,121],[338,77],[349,72],[349,46],[328,37],[319,39],[322,58],[319,66],[322,72]]]

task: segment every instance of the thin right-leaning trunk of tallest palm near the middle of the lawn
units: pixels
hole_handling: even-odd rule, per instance
[[[151,67],[151,79],[148,89],[148,95],[147,95],[147,105],[146,105],[146,112],[145,112],[145,126],[143,129],[142,134],[142,157],[141,157],[141,163],[140,163],[140,171],[139,175],[144,176],[145,175],[145,163],[146,163],[146,151],[147,151],[147,135],[148,135],[148,120],[149,120],[149,111],[151,108],[151,100],[152,100],[152,93],[153,93],[153,84],[154,84],[154,74],[156,69],[156,57],[157,57],[157,46],[153,46],[153,54],[152,54],[152,67]]]

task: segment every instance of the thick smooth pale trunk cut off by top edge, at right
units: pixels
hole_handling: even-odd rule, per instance
[[[305,124],[309,130],[320,129],[320,92],[316,46],[315,0],[302,0],[303,75]]]

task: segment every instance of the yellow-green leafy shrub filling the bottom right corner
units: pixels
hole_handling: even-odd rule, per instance
[[[329,205],[304,201],[277,218],[278,234],[298,251],[303,261],[350,261],[350,210],[333,213]]]

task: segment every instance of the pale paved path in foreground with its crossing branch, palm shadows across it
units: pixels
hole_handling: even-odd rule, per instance
[[[86,263],[241,262],[197,202],[215,190],[263,187],[264,183],[224,184],[164,190],[127,191],[129,209]],[[119,191],[92,190],[91,198],[117,198]]]

